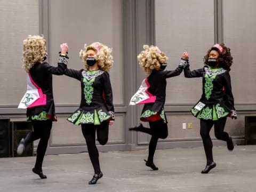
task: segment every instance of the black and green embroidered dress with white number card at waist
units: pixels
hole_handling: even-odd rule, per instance
[[[201,69],[190,71],[189,65],[187,65],[184,75],[188,78],[203,77],[202,97],[191,109],[191,113],[195,117],[216,121],[230,116],[231,111],[235,110],[228,70],[204,66]]]

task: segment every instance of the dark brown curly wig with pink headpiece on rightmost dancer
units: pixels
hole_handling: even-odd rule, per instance
[[[233,63],[233,57],[231,56],[230,48],[227,47],[224,43],[220,43],[219,45],[222,47],[223,50],[220,52],[217,47],[212,47],[210,50],[207,51],[206,55],[204,56],[204,64],[207,65],[207,60],[209,58],[210,52],[212,50],[215,50],[219,53],[218,62],[220,67],[230,71],[230,67]]]

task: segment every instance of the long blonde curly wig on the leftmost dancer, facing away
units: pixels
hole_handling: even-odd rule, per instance
[[[28,72],[36,62],[42,62],[46,54],[46,40],[39,35],[29,35],[23,40],[22,66]]]

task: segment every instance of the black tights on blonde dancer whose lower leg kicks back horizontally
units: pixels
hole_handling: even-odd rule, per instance
[[[149,141],[149,146],[148,146],[148,162],[153,163],[155,151],[156,151],[156,145],[158,139],[165,139],[168,136],[168,127],[167,124],[163,122],[162,119],[159,119],[158,121],[155,122],[149,122],[149,128],[146,127],[141,127],[139,131],[143,133],[148,133],[152,137]]]

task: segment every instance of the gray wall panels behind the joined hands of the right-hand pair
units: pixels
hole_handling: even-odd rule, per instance
[[[214,44],[214,1],[196,0],[188,6],[186,0],[156,0],[155,7],[156,45],[170,58],[167,69],[172,70],[179,65],[183,51],[189,53],[192,69],[201,68],[207,48]],[[169,139],[200,138],[199,121],[176,110],[184,105],[192,106],[199,100],[201,84],[202,78],[187,79],[183,73],[167,79],[165,108],[169,121]],[[182,123],[192,123],[193,128],[184,130]]]

